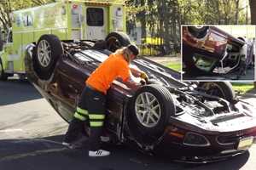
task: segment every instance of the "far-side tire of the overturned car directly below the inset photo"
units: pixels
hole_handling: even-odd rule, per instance
[[[236,98],[230,82],[200,82],[198,86],[207,90],[207,94],[218,96],[230,102]]]

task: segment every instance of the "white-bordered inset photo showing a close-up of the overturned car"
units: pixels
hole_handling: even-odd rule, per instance
[[[182,26],[183,81],[255,81],[256,26]]]

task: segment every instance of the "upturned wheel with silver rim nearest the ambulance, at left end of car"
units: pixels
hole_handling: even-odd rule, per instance
[[[58,37],[51,34],[41,36],[33,51],[33,64],[38,77],[48,80],[54,71],[56,60],[63,53]]]

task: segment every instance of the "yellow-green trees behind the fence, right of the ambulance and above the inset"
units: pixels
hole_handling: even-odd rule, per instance
[[[180,25],[247,24],[245,0],[127,0],[127,30],[160,37],[166,52],[180,43]],[[137,25],[139,23],[139,25]]]

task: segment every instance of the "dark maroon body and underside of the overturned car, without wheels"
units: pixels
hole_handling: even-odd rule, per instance
[[[69,122],[73,117],[79,95],[85,86],[84,80],[104,59],[108,58],[110,52],[108,50],[87,49],[75,52],[69,57],[65,54],[61,55],[52,76],[45,81],[38,78],[37,73],[33,70],[32,48],[33,45],[27,49],[27,77],[40,94],[49,101],[55,111]],[[244,108],[244,111],[237,109],[246,107],[244,106],[246,104],[240,101],[229,103],[216,96],[204,94],[195,88],[195,84],[177,80],[180,77],[179,72],[156,64],[149,59],[137,59],[131,65],[145,71],[149,79],[153,79],[155,84],[166,87],[170,91],[177,112],[170,116],[164,132],[160,137],[157,137],[158,139],[153,144],[141,143],[135,138],[133,135],[135,132],[127,122],[130,120],[131,101],[140,87],[131,86],[129,82],[122,82],[119,79],[115,80],[108,90],[106,124],[109,133],[113,133],[119,142],[135,144],[140,150],[155,154],[170,151],[171,156],[176,153],[175,156],[187,157],[187,161],[193,161],[189,156],[204,156],[204,159],[201,160],[210,161],[213,159],[210,159],[211,156],[216,156],[216,160],[221,160],[224,157],[235,156],[244,152],[244,150],[237,150],[239,140],[250,136],[255,137],[255,113],[250,109]],[[191,103],[189,100],[193,99],[198,100]],[[221,105],[221,102],[217,101],[211,103],[210,99],[221,100],[228,105]],[[212,114],[211,111],[207,111],[207,106],[204,106],[203,100],[206,104],[209,100],[207,105],[213,105],[212,108],[219,107],[224,111],[215,111]],[[234,109],[235,107],[236,109]],[[210,145],[184,144],[185,136],[188,133],[203,136]],[[232,144],[218,144],[217,139],[221,136],[226,137],[228,143],[231,141]],[[226,142],[225,139],[223,140]],[[178,152],[173,152],[177,149]],[[225,150],[233,151],[227,154],[224,152]]]

